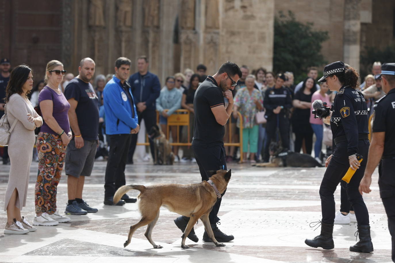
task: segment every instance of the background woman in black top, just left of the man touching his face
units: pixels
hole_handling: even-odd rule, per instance
[[[194,136],[194,96],[195,91],[199,87],[199,75],[194,74],[190,78],[189,88],[184,90],[181,99],[181,108],[189,110],[189,138],[188,129],[186,127],[182,129],[182,142],[192,142],[192,137]],[[194,152],[190,146],[185,146],[182,153],[182,162],[187,160],[194,160]]]

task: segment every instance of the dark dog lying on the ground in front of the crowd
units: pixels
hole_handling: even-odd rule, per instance
[[[295,153],[284,149],[280,143],[271,142],[269,146],[270,161],[255,164],[262,167],[323,167],[311,155]]]

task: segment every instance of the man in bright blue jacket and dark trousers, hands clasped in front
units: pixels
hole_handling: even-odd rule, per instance
[[[103,91],[105,132],[110,136],[110,151],[105,168],[105,205],[113,205],[115,192],[126,183],[125,166],[131,134],[137,134],[140,129],[130,85],[126,81],[130,63],[128,58],[122,57],[115,61],[115,75],[107,82]],[[135,201],[135,198],[124,194],[116,205]]]

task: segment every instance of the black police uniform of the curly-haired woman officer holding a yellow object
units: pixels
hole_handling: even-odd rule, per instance
[[[348,200],[354,207],[359,226],[369,226],[369,214],[361,194],[359,182],[365,172],[369,151],[368,113],[365,99],[360,91],[342,86],[332,105],[331,130],[333,155],[320,186],[322,222],[333,224],[335,200],[333,193],[344,174],[350,168],[348,157],[358,153],[363,156],[361,166],[346,186]]]

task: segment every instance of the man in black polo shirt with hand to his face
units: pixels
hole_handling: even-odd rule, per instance
[[[227,170],[223,142],[224,125],[232,114],[233,96],[231,90],[237,85],[241,76],[240,68],[235,63],[228,61],[222,64],[214,76],[207,76],[195,92],[195,130],[192,149],[199,166],[201,179],[204,181],[208,181],[211,177],[209,170]],[[227,107],[225,107],[224,97],[229,101]],[[218,242],[228,242],[234,239],[233,235],[222,233],[216,226],[220,220],[217,214],[221,200],[222,198],[218,199],[213,206],[209,220],[215,239]],[[188,221],[189,218],[186,216],[180,216],[174,220],[182,232],[184,232]],[[193,228],[188,238],[194,242],[199,240]],[[211,242],[206,231],[203,234],[203,241]]]

